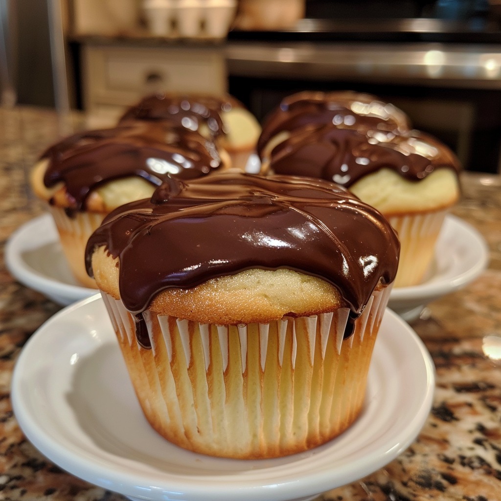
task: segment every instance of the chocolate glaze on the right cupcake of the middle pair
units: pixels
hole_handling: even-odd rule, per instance
[[[275,174],[319,177],[347,187],[381,168],[418,181],[436,168],[458,172],[460,163],[447,146],[416,130],[361,132],[334,125],[297,131],[270,155],[270,170]]]

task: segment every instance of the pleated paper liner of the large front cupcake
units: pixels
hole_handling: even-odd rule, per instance
[[[320,445],[357,418],[390,288],[374,293],[346,339],[347,308],[229,326],[147,310],[151,349],[122,302],[102,296],[153,428],[195,452],[259,458]]]

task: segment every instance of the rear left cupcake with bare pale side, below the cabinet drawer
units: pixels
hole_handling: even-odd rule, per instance
[[[228,152],[232,167],[244,169],[256,150],[261,126],[236,98],[203,94],[157,94],[128,108],[119,123],[164,121],[197,130]]]

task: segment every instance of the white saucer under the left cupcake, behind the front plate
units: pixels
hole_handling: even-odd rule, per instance
[[[97,292],[79,285],[73,277],[50,214],[28,221],[11,235],[5,247],[5,262],[19,282],[59,305],[69,305]]]

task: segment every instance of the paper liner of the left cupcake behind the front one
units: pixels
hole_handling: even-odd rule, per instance
[[[75,212],[71,217],[62,207],[49,206],[58,229],[63,253],[75,278],[85,287],[96,289],[94,279],[85,270],[85,246],[92,232],[98,228],[106,214],[101,212]]]

